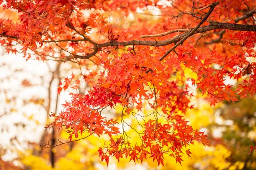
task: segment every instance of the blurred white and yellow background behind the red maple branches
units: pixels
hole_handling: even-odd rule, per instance
[[[115,16],[113,14],[113,16]],[[12,11],[2,11],[0,17],[17,20]],[[116,14],[118,17],[118,14]],[[157,20],[148,14],[132,15],[134,18]],[[122,23],[122,20],[119,20]],[[65,131],[52,133],[44,126],[51,121],[48,113],[61,111],[65,101],[70,100],[69,89],[57,95],[58,83],[63,77],[86,71],[75,63],[53,61],[26,61],[21,54],[7,54],[0,49],[0,170],[255,170],[256,153],[249,154],[250,146],[256,140],[256,96],[248,96],[235,103],[224,103],[210,107],[207,97],[191,87],[195,94],[194,109],[185,117],[194,129],[205,131],[210,147],[195,142],[188,147],[192,159],[183,156],[182,166],[175,159],[164,158],[165,167],[157,166],[148,159],[143,164],[128,160],[111,159],[108,167],[99,159],[97,150],[104,145],[105,138],[90,138],[45,148],[44,142],[59,144],[68,142]],[[94,68],[92,68],[94,69]],[[95,68],[94,71],[98,68]],[[195,77],[185,70],[187,77]],[[232,82],[236,84],[236,82]],[[93,83],[92,83],[93,84]],[[91,84],[81,82],[78,91],[87,92]],[[73,91],[75,92],[75,91]],[[142,112],[147,112],[145,104]],[[107,109],[105,117],[120,118],[121,106],[115,110]],[[129,119],[128,116],[125,119]],[[130,120],[130,124],[133,124]],[[127,131],[131,140],[136,142],[134,131]],[[79,136],[83,138],[83,136]]]

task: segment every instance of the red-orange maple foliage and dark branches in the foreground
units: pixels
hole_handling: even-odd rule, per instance
[[[183,154],[191,156],[186,146],[195,140],[209,145],[207,135],[193,129],[182,115],[193,108],[189,84],[206,94],[211,105],[235,102],[256,92],[255,0],[0,3],[19,15],[17,22],[0,19],[0,44],[7,52],[87,68],[85,73],[62,79],[58,93],[78,89],[81,81],[91,89],[85,95],[70,93],[72,100],[61,113],[50,115],[55,119],[47,127],[64,128],[70,142],[82,133],[88,133],[86,137],[107,134],[109,142],[98,150],[107,163],[110,157],[134,162],[150,157],[163,164],[167,154],[181,164]],[[142,17],[130,23],[122,20],[138,10],[154,17],[152,8],[160,13],[154,23]],[[197,78],[186,78],[185,69]],[[239,81],[237,88],[227,79]],[[145,101],[152,109],[146,115],[140,113]],[[123,107],[120,119],[105,118],[105,108],[116,105]],[[140,119],[139,128],[129,125],[125,114]],[[165,121],[159,122],[160,117]],[[127,127],[140,141],[129,142]]]

